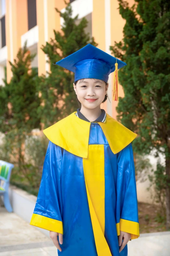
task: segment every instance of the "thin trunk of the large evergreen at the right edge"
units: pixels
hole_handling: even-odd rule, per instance
[[[166,230],[170,229],[170,157],[166,157]]]

